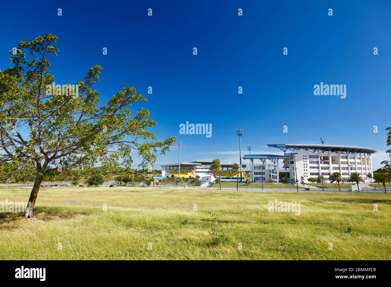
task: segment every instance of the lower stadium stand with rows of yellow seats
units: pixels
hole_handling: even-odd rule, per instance
[[[219,178],[219,173],[210,169],[211,164],[212,160],[196,160],[192,162],[165,164],[161,166],[161,176],[174,175],[175,177],[195,177],[198,175],[201,182],[214,182],[216,178]],[[235,173],[234,171],[231,171],[232,164],[221,164],[221,167],[223,169],[221,171],[221,181],[237,181],[238,176],[239,180],[245,179],[244,172]],[[246,164],[242,164],[242,167],[246,168]]]

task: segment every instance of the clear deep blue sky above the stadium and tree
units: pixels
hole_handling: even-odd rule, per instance
[[[251,153],[281,154],[266,144],[323,137],[378,150],[378,168],[388,158],[384,128],[391,125],[389,15],[389,1],[4,2],[0,69],[11,66],[7,51],[20,40],[55,34],[56,83],[76,83],[99,64],[101,103],[136,87],[158,122],[155,134],[182,141],[183,161],[239,161],[240,127],[242,149],[251,144]],[[346,84],[346,98],[315,96],[320,82]],[[212,124],[212,137],[180,135],[186,121]],[[176,146],[155,168],[177,160]]]

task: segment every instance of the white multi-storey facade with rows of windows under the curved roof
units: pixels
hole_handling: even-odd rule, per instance
[[[293,153],[285,153],[289,159],[283,160],[283,170],[289,172],[289,177],[300,181],[301,176],[308,182],[308,178],[317,178],[323,175],[326,182],[330,182],[330,175],[334,172],[341,173],[344,182],[349,182],[352,173],[358,173],[365,181],[370,181],[366,176],[373,175],[372,157],[370,153],[332,153],[332,152],[310,152],[308,150],[295,150]]]

